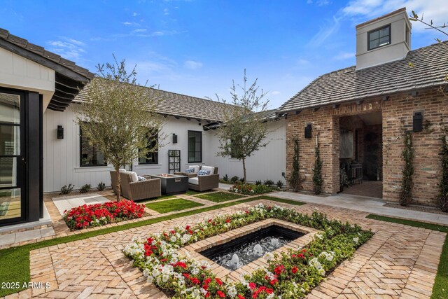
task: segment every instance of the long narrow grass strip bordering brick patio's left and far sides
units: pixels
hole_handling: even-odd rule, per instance
[[[216,209],[222,209],[225,207],[232,207],[236,204],[242,204],[244,202],[251,202],[253,200],[273,200],[276,202],[286,202],[288,204],[301,205],[303,202],[294,202],[289,200],[283,200],[276,197],[271,196],[263,196],[260,195],[258,197],[246,198],[237,200],[235,202],[225,202],[223,204],[216,204],[211,207],[203,207],[200,209],[195,209],[193,211],[183,211],[180,213],[160,216],[158,218],[146,219],[138,222],[126,223],[122,225],[113,226],[110,228],[103,228],[102,230],[90,230],[89,232],[84,232],[77,235],[70,235],[66,237],[58,237],[55,239],[50,239],[46,241],[37,242],[34,244],[27,244],[22,246],[16,246],[8,249],[0,250],[0,281],[17,281],[20,286],[24,284],[24,282],[29,281],[29,251],[34,249],[41,249],[48,246],[53,246],[57,244],[63,244],[68,242],[78,241],[80,239],[87,239],[90,237],[96,237],[99,235],[106,235],[111,232],[119,232],[121,230],[129,230],[130,228],[139,228],[144,225],[151,225],[153,223],[158,223],[161,221],[167,221],[174,218],[180,218],[185,216],[190,216],[194,214],[199,214],[204,211],[213,211]],[[5,295],[9,295],[12,293],[17,293],[18,291],[22,291],[22,288],[0,288],[0,297]]]

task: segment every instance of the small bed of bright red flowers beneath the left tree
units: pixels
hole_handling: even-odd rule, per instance
[[[104,202],[103,204],[84,204],[64,211],[64,221],[71,230],[105,225],[107,223],[141,218],[145,205],[132,200]]]

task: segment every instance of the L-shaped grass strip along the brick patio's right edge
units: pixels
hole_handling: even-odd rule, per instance
[[[439,232],[448,233],[448,226],[444,225],[398,219],[374,214],[367,215],[367,218],[393,223],[400,223],[409,226],[414,226],[416,228],[426,228],[428,230],[437,230]],[[447,298],[448,298],[448,235],[447,237],[445,237],[445,242],[443,244],[442,255],[440,256],[440,263],[439,267],[437,268],[437,275],[434,281],[433,294],[431,295],[431,299],[447,299]]]

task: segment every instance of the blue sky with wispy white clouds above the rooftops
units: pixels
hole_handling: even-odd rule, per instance
[[[321,74],[355,64],[355,26],[406,6],[447,22],[446,0],[3,0],[0,27],[96,71],[112,53],[141,83],[230,99],[232,80],[258,78],[269,108]],[[445,39],[413,24],[412,48]]]

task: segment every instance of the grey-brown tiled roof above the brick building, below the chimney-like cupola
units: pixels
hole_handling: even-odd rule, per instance
[[[348,67],[316,78],[288,102],[279,113],[330,104],[353,102],[439,86],[448,74],[448,42],[409,51],[403,60],[356,70]],[[409,63],[414,67],[409,67]]]

